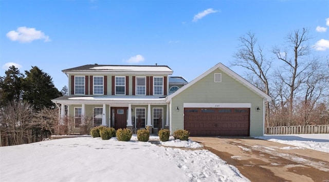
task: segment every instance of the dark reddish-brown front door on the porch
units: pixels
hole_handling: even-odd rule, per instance
[[[127,109],[125,107],[111,108],[113,118],[113,126],[117,130],[127,127]]]

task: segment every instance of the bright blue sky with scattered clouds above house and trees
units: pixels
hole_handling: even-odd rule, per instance
[[[13,64],[23,73],[38,66],[61,90],[64,69],[157,63],[190,82],[219,62],[229,67],[248,31],[272,56],[302,28],[314,53],[328,55],[329,1],[0,0],[0,76]]]

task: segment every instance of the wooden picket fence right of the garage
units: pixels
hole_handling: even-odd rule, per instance
[[[312,134],[312,133],[329,133],[329,125],[267,127],[267,132],[266,132],[266,134]]]

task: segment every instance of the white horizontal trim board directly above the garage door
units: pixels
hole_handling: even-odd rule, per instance
[[[184,108],[251,108],[251,103],[184,103]]]

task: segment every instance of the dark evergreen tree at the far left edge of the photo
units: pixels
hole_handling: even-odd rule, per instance
[[[22,98],[22,81],[24,75],[15,66],[9,67],[5,76],[0,76],[0,105],[4,107],[12,100]]]

